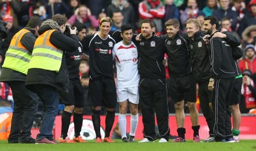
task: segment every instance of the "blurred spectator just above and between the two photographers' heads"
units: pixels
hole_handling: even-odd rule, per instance
[[[42,21],[48,18],[44,2],[39,1],[36,3],[35,7],[30,7],[29,17],[31,18],[32,16],[39,16]]]

